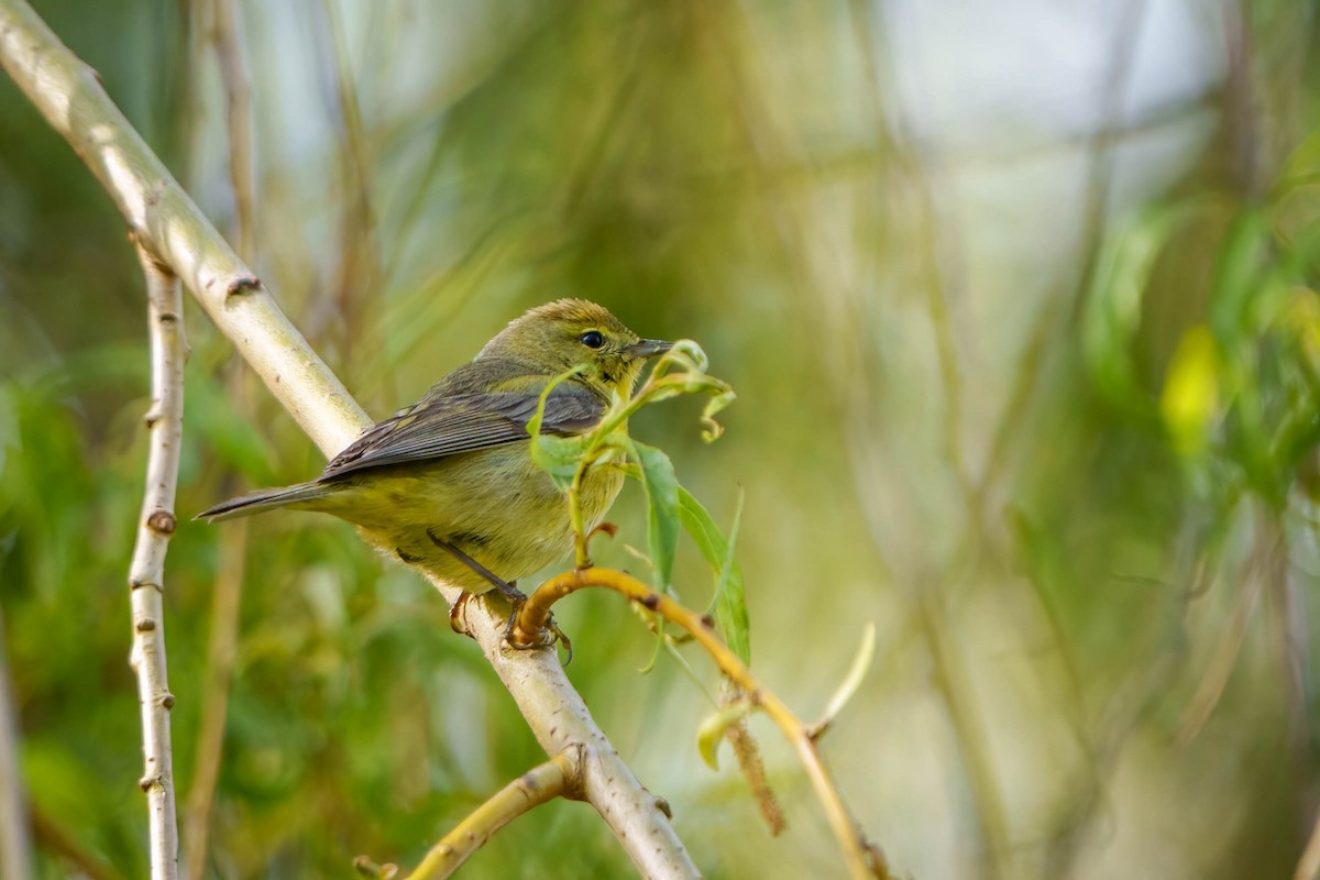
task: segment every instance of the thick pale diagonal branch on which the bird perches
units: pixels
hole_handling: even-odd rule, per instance
[[[371,426],[343,384],[128,124],[95,73],[24,0],[0,0],[0,65],[100,179],[139,240],[174,269],[326,455]],[[458,587],[426,574],[450,604],[458,600]],[[601,814],[638,871],[647,877],[698,876],[655,796],[597,726],[554,653],[508,650],[506,615],[486,602],[467,603],[465,621],[541,748],[548,755],[581,749],[583,800]]]

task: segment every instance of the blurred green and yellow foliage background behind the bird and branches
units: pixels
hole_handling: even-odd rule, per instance
[[[561,296],[738,391],[643,413],[738,542],[754,668],[916,877],[1311,877],[1320,139],[1309,0],[34,3],[368,412]],[[189,305],[181,517],[312,443]],[[38,877],[147,875],[125,587],[148,400],[125,226],[0,78],[0,613]],[[636,566],[640,492],[598,561]],[[690,604],[710,577],[688,546]],[[329,517],[166,567],[187,876],[413,865],[544,760],[428,584]],[[771,839],[610,595],[569,677],[713,877]],[[1308,859],[1320,860],[1320,854]],[[628,876],[553,803],[474,877]]]

